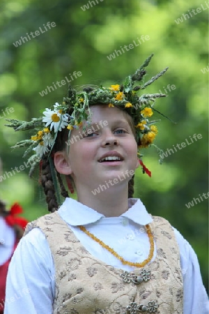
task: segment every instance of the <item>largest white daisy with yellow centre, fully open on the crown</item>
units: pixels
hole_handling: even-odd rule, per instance
[[[46,108],[43,114],[45,117],[42,118],[42,122],[46,122],[46,126],[50,125],[50,130],[54,128],[55,133],[68,126],[69,114],[61,114],[58,110],[50,110],[48,108]]]

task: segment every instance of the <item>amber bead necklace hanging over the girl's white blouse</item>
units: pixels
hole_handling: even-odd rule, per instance
[[[121,260],[123,265],[129,265],[129,266],[134,266],[134,267],[144,267],[153,258],[153,253],[154,253],[153,234],[152,234],[152,232],[150,230],[150,226],[149,225],[146,225],[145,227],[146,227],[146,232],[148,234],[148,238],[149,238],[149,241],[150,241],[150,252],[149,252],[148,258],[146,260],[144,260],[144,262],[134,263],[134,262],[128,262],[127,260],[124,260],[124,258],[122,256],[118,255],[118,253],[116,253],[116,251],[114,251],[113,248],[110,248],[109,246],[107,246],[107,244],[104,244],[104,242],[102,240],[100,240],[97,237],[95,237],[95,235],[93,235],[91,232],[86,230],[86,228],[84,226],[82,226],[82,225],[79,226],[80,230],[85,232],[88,235],[88,237],[91,237],[91,239],[93,239],[94,241],[98,242],[98,244],[100,244],[100,246],[102,246],[103,248],[106,248],[106,250],[109,251],[116,258],[118,258],[118,260]]]

